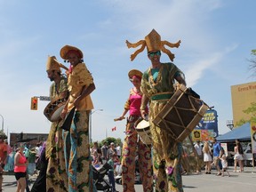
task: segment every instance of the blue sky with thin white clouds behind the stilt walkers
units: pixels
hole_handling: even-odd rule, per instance
[[[134,43],[155,28],[163,40],[181,40],[172,49],[174,63],[191,86],[218,113],[219,132],[228,132],[233,118],[230,86],[255,81],[249,71],[256,48],[256,3],[252,0],[55,0],[0,1],[0,114],[4,132],[49,132],[48,104],[30,110],[32,96],[46,96],[48,55],[68,67],[60,48],[75,45],[84,52],[96,90],[92,93],[92,140],[124,139],[124,110],[132,88],[128,71],[146,70],[146,51],[130,61]],[[163,62],[169,61],[162,55]],[[103,109],[100,111],[99,109]],[[116,132],[111,128],[116,126]]]

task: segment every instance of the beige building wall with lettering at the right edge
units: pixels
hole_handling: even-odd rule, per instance
[[[251,106],[252,102],[256,102],[256,82],[247,84],[237,84],[231,86],[233,122],[236,123],[241,119],[248,120],[252,114],[245,114],[244,110]]]

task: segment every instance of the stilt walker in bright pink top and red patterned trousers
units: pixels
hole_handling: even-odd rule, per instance
[[[128,76],[134,87],[130,90],[122,116],[115,119],[123,120],[126,113],[130,111],[130,116],[127,118],[122,154],[122,184],[124,191],[135,191],[135,158],[138,156],[143,191],[151,192],[153,191],[151,146],[145,145],[140,140],[134,127],[134,123],[141,117],[140,103],[142,92],[140,92],[140,81],[142,73],[139,70],[132,69]]]

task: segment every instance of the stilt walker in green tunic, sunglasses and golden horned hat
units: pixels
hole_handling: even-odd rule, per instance
[[[145,36],[145,40],[140,40],[136,44],[126,41],[126,44],[128,48],[141,45],[140,49],[131,55],[131,60],[134,60],[137,54],[147,47],[148,59],[151,61],[151,67],[144,72],[141,80],[143,97],[140,113],[145,118],[147,115],[145,109],[149,104],[148,117],[153,140],[153,170],[156,178],[156,192],[182,192],[180,164],[182,145],[180,142],[173,140],[168,132],[152,122],[175,92],[173,87],[175,81],[186,85],[185,77],[177,66],[171,62],[160,62],[162,52],[166,53],[170,60],[174,59],[172,52],[167,50],[164,45],[178,48],[180,41],[176,44],[161,41],[161,36],[153,29],[148,36]]]

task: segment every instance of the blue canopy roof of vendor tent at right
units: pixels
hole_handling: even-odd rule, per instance
[[[230,132],[217,137],[220,142],[230,142],[234,140],[251,140],[251,124],[243,124]]]

